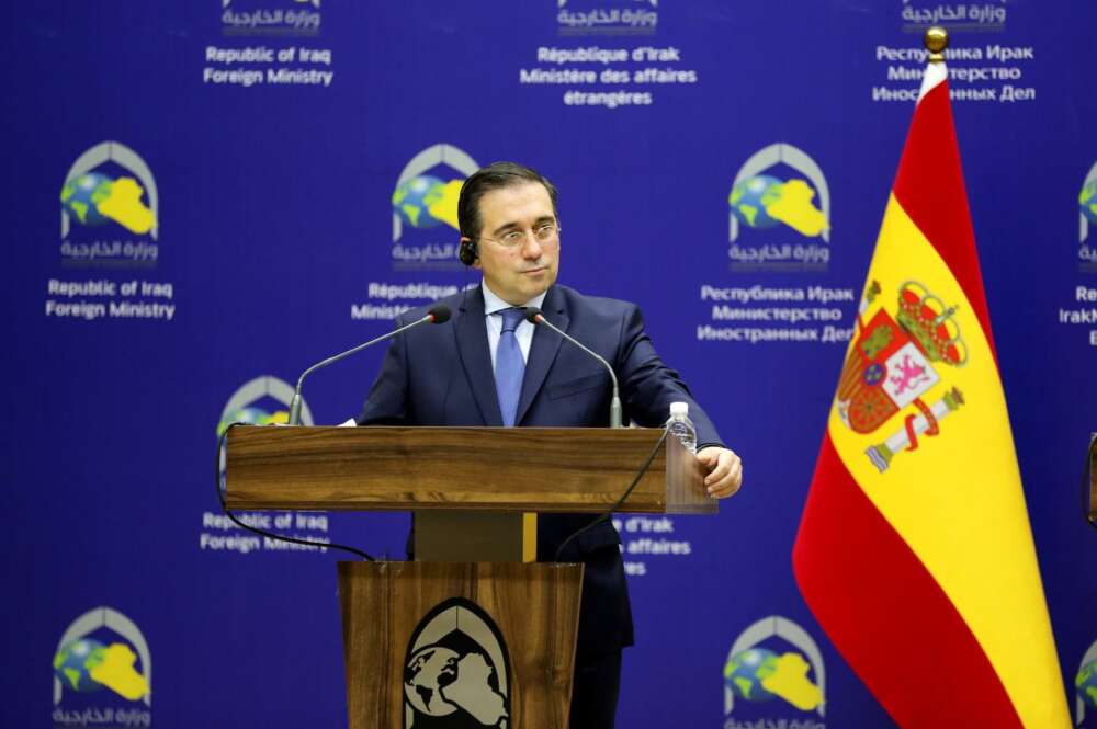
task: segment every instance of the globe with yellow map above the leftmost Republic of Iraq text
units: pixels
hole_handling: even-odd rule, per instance
[[[86,226],[113,220],[131,232],[144,235],[156,225],[156,216],[142,203],[145,190],[134,178],[113,180],[99,172],[86,172],[61,187],[61,206]]]

